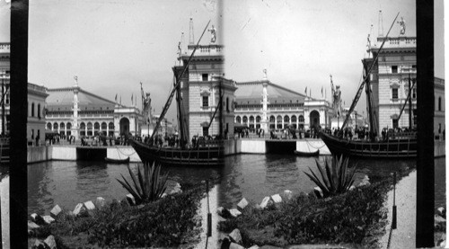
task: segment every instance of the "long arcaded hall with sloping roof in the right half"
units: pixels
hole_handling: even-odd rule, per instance
[[[266,73],[266,71],[265,71]],[[297,93],[271,83],[266,74],[260,81],[237,83],[235,123],[250,129],[311,129],[330,127],[330,102]]]

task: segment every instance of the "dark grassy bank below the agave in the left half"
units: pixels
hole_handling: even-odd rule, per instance
[[[193,241],[191,237],[199,236],[197,210],[206,191],[203,185],[191,185],[182,193],[140,206],[113,201],[78,218],[63,211],[54,223],[38,228],[36,237],[45,239],[51,234],[58,248],[186,245]]]

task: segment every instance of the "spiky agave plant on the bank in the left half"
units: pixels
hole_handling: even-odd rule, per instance
[[[144,171],[142,172],[140,166],[137,165],[137,175],[135,175],[128,165],[129,175],[131,175],[133,180],[134,188],[123,174],[121,175],[123,181],[117,179],[134,196],[136,205],[160,199],[163,192],[167,189],[168,173],[161,174],[161,165],[145,163],[143,168]]]

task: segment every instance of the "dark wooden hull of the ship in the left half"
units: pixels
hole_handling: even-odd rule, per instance
[[[218,141],[216,141],[218,142]],[[153,147],[138,141],[131,141],[142,162],[174,166],[219,166],[225,165],[224,147],[219,143],[198,148]]]

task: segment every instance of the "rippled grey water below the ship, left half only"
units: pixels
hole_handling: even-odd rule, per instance
[[[135,168],[136,163],[131,163]],[[174,182],[201,182],[218,177],[215,168],[163,169],[169,172],[170,184]],[[127,165],[101,162],[50,161],[28,165],[28,213],[49,214],[57,204],[64,209],[75,209],[77,203],[96,200],[101,196],[107,201],[122,200],[128,194],[116,179],[132,181]],[[131,183],[132,184],[132,183]]]

